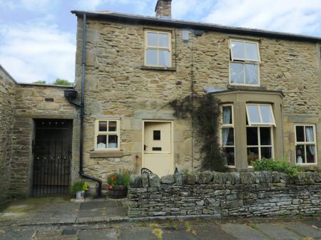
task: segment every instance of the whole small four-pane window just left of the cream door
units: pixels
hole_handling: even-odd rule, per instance
[[[96,120],[95,150],[119,150],[119,122],[117,119]]]

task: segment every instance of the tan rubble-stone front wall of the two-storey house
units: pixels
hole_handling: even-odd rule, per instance
[[[142,165],[144,119],[174,120],[175,165],[178,169],[191,169],[193,155],[194,170],[197,170],[201,160],[200,142],[195,139],[192,153],[190,122],[177,120],[168,103],[190,95],[192,52],[194,86],[198,93],[208,87],[229,88],[229,38],[258,41],[263,89],[285,93],[282,119],[289,123],[282,128],[285,157],[295,161],[294,122],[316,124],[317,140],[321,139],[320,63],[315,43],[214,31],[205,31],[203,36],[190,33],[188,43],[184,43],[181,28],[125,24],[90,17],[87,20],[84,170],[88,174],[106,179],[106,174],[121,167],[138,173]],[[78,18],[77,90],[81,85],[81,27],[82,21]],[[173,68],[167,71],[143,68],[146,28],[171,31]],[[91,157],[94,120],[101,116],[121,118],[123,157]],[[321,147],[318,148],[321,156],[320,150]]]

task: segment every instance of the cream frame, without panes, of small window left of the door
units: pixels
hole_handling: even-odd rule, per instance
[[[99,131],[99,122],[107,122],[107,131]],[[108,131],[109,122],[116,122],[116,131]],[[120,118],[99,118],[95,120],[95,139],[93,148],[95,151],[118,151],[121,146],[121,120]],[[98,135],[106,135],[106,148],[97,147],[97,137]],[[117,148],[108,148],[108,135],[117,135]]]

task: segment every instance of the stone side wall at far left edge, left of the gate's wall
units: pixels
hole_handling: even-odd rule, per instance
[[[16,83],[0,66],[0,202],[9,195]]]

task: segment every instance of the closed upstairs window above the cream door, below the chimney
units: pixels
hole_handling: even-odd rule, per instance
[[[171,66],[171,34],[145,31],[145,66]]]

